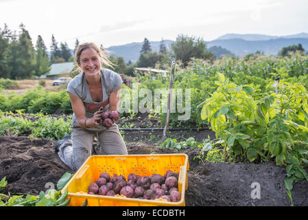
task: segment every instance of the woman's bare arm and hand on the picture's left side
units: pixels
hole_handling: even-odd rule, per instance
[[[92,128],[99,125],[99,114],[96,112],[93,115],[93,118],[86,118],[86,109],[84,109],[84,103],[82,100],[73,94],[69,93],[69,98],[71,99],[71,107],[75,113],[78,124],[83,128]],[[86,124],[85,124],[86,123]]]

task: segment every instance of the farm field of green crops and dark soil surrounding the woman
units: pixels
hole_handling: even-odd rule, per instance
[[[194,130],[169,129],[162,140],[162,130],[150,129],[163,128],[166,113],[154,111],[120,112],[117,124],[129,154],[189,156],[186,206],[307,206],[307,76],[307,56],[195,60],[177,67],[174,78],[175,89],[191,89],[190,118],[178,120],[183,113],[174,112],[169,122],[169,128]],[[139,80],[138,91],[152,94],[169,83],[160,76]],[[73,173],[54,153],[55,142],[70,134],[66,91],[34,87],[14,95],[4,89],[0,100],[4,194],[38,195],[46,183]]]

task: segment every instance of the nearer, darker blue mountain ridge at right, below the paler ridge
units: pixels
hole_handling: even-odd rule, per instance
[[[207,42],[208,47],[220,46],[230,50],[237,56],[264,52],[265,55],[277,55],[279,50],[289,45],[301,43],[305,50],[308,50],[308,39],[270,39],[268,41],[246,41],[244,39],[226,39]]]

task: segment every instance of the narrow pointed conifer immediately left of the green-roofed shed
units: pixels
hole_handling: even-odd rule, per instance
[[[42,39],[42,36],[38,35],[36,41],[36,68],[35,75],[41,76],[50,71],[49,58],[47,54],[47,47]]]

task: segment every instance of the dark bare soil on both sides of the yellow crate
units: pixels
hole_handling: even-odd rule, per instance
[[[54,140],[0,136],[0,179],[7,178],[6,192],[11,195],[38,195],[50,184],[56,186],[66,172],[73,173],[54,153]],[[178,153],[144,142],[128,142],[129,154]],[[264,164],[224,164],[194,159],[198,148],[180,153],[189,156],[186,206],[290,206],[283,179],[286,171],[274,162]],[[259,184],[260,199],[252,199]],[[294,184],[295,206],[308,206],[308,181]]]

